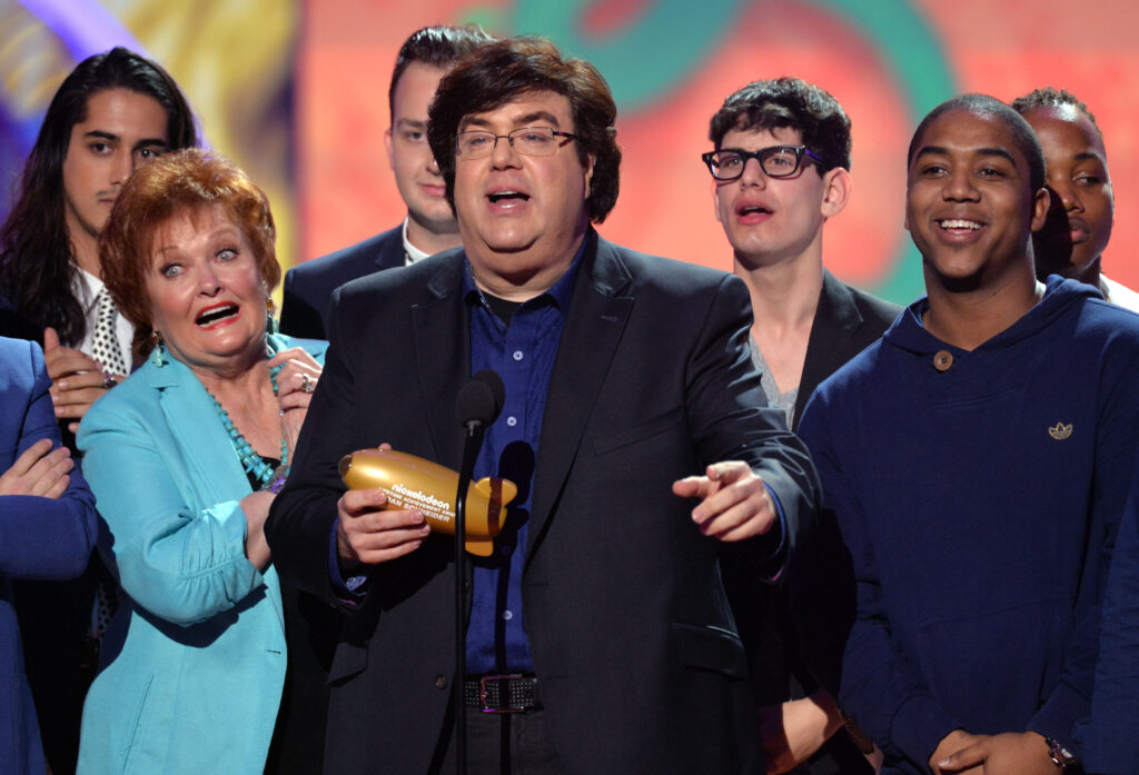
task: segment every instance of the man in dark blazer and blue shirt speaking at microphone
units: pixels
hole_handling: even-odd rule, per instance
[[[814,473],[764,405],[743,282],[591,229],[616,201],[615,118],[600,74],[548,42],[480,49],[429,122],[462,249],[334,295],[265,527],[278,570],[350,611],[327,773],[450,772],[452,692],[473,773],[763,770],[720,569],[781,572]],[[482,369],[506,401],[475,476],[519,494],[473,559],[456,676],[452,539],[345,493],[337,465],[386,442],[458,468],[454,397]]]

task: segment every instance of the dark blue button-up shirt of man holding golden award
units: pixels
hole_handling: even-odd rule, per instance
[[[518,485],[494,553],[470,556],[470,675],[534,669],[522,616],[522,569],[546,397],[583,254],[584,242],[565,274],[544,294],[518,305],[508,322],[494,313],[467,267],[464,302],[470,315],[470,372],[491,369],[506,388],[502,413],[486,430],[474,478],[499,477]]]

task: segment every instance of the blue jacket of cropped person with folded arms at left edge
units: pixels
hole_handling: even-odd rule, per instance
[[[50,384],[39,346],[0,338],[0,473],[40,439],[59,446]],[[77,468],[58,498],[0,495],[0,773],[44,768],[9,580],[79,576],[98,530],[95,497]]]

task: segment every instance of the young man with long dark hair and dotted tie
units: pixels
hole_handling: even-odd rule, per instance
[[[131,172],[197,145],[194,117],[159,65],[124,48],[81,61],[48,106],[0,228],[0,333],[43,345],[64,442],[130,373],[133,331],[106,294],[97,240]],[[74,772],[92,661],[92,561],[80,579],[19,583],[27,674],[51,770]]]

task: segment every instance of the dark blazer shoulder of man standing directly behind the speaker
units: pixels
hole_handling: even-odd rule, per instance
[[[403,224],[362,242],[298,264],[285,273],[281,333],[327,339],[328,304],[345,282],[403,266]]]

